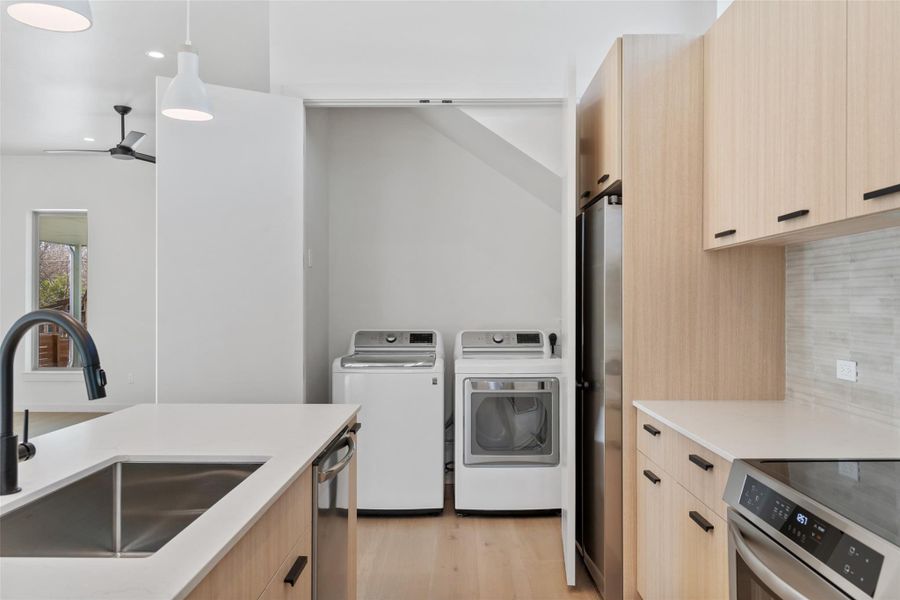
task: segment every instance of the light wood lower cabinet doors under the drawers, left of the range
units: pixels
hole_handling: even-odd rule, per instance
[[[727,600],[725,520],[637,456],[637,590],[643,600]]]

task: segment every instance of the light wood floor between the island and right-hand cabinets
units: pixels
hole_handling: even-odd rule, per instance
[[[563,571],[559,517],[360,517],[359,600],[599,600]]]

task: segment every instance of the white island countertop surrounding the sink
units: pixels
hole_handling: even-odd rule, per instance
[[[186,596],[358,410],[352,404],[148,404],[34,438],[37,455],[19,463],[22,491],[0,497],[0,514],[119,460],[265,464],[146,558],[0,558],[0,597]]]

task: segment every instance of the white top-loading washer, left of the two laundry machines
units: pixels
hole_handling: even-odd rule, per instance
[[[356,331],[332,365],[332,403],[359,404],[360,513],[444,506],[444,350],[437,331]]]

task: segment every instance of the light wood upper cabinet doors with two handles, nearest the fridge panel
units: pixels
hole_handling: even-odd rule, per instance
[[[738,0],[704,63],[704,247],[843,219],[847,4]]]

